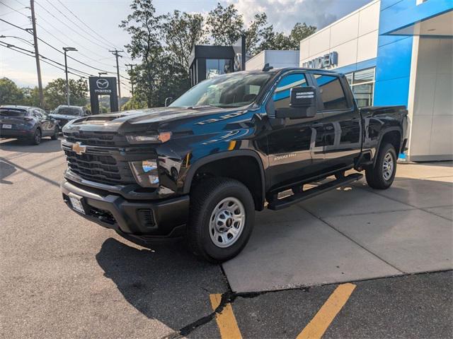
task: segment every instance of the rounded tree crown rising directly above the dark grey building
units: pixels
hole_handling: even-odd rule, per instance
[[[243,34],[243,18],[233,4],[224,7],[217,3],[208,14],[206,23],[216,45],[231,46]]]

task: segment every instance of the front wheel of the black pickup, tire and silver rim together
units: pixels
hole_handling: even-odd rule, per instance
[[[254,222],[255,205],[245,185],[234,179],[207,179],[190,195],[189,248],[212,263],[229,260],[246,246]]]

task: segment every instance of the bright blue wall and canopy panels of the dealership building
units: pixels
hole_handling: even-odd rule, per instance
[[[427,18],[451,11],[452,0],[382,0],[374,105],[408,105],[412,35],[391,35]],[[396,32],[397,33],[397,32]]]

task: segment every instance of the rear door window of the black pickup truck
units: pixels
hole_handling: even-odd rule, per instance
[[[348,108],[343,87],[338,76],[324,76],[315,74],[316,83],[321,93],[324,109],[345,109]]]

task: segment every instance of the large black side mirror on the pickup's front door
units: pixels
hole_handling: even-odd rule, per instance
[[[276,118],[303,119],[316,114],[316,88],[293,87],[289,91],[289,107],[275,110]]]

